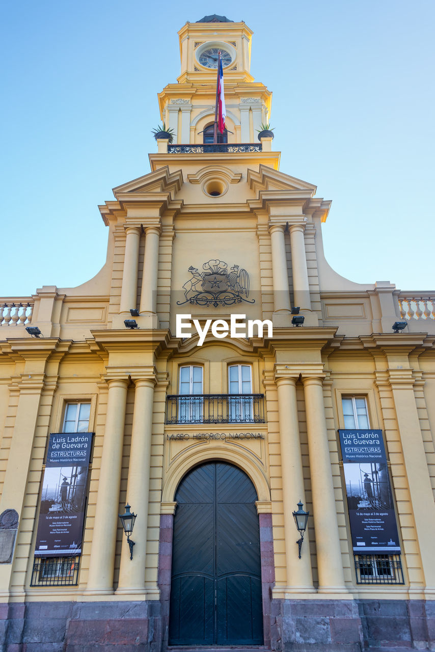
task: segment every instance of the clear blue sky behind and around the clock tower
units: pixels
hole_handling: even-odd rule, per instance
[[[97,205],[149,172],[177,31],[215,12],[254,31],[280,170],[333,200],[332,267],[434,288],[433,0],[3,0],[0,296],[76,286],[102,267]]]

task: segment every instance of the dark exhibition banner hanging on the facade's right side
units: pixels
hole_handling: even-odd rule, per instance
[[[338,430],[353,552],[400,552],[382,430]]]

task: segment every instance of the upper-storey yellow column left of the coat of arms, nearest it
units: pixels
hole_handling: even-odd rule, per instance
[[[158,240],[160,226],[145,228],[145,254],[143,258],[142,292],[140,295],[140,314],[148,316],[157,327],[157,277],[158,277]]]

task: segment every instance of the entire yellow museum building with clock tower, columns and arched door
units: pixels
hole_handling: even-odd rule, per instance
[[[330,201],[256,138],[251,38],[220,16],[181,28],[158,95],[173,141],[100,206],[104,267],[1,299],[4,649],[435,645],[434,293],[329,267]],[[85,471],[50,466],[83,433]],[[42,519],[63,541],[80,514],[82,541],[48,554]]]

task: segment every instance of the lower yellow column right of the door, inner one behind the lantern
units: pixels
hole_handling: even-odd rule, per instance
[[[284,538],[286,541],[287,587],[295,593],[314,591],[312,585],[308,533],[299,559],[299,539],[292,512],[299,500],[305,503],[302,473],[301,441],[297,419],[296,380],[277,378],[280,450],[282,469],[282,503],[284,507]]]

